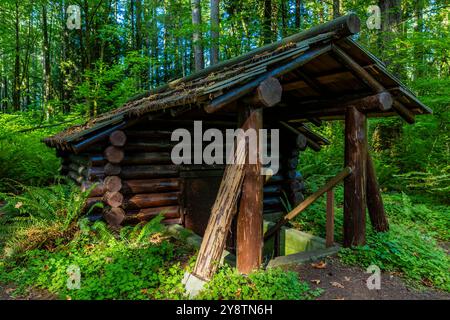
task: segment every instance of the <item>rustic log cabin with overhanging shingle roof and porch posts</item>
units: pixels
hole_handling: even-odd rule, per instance
[[[333,242],[332,188],[344,181],[344,245],[365,242],[366,208],[377,231],[388,229],[367,146],[367,118],[398,115],[414,123],[432,111],[384,64],[350,36],[360,21],[337,18],[133,99],[82,126],[45,139],[62,158],[62,173],[83,188],[98,183],[88,205],[102,201],[112,225],[149,220],[159,213],[203,236],[194,275],[208,280],[225,246],[248,273],[262,262],[264,238],[327,193],[327,243]],[[194,120],[210,128],[278,128],[280,170],[259,174],[260,164],[174,165],[175,128]],[[303,198],[296,172],[299,152],[320,151],[328,140],[311,128],[345,121],[343,171]],[[236,158],[247,156],[245,148]],[[263,235],[265,214],[294,207]],[[233,219],[233,217],[235,218]],[[209,221],[209,223],[208,223]],[[228,238],[228,240],[227,240]]]

